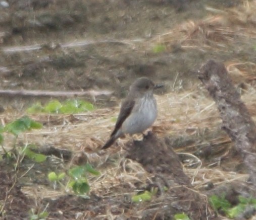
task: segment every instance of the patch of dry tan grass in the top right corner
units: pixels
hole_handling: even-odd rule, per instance
[[[199,50],[227,50],[239,39],[256,38],[256,3],[244,2],[239,8],[226,11],[207,8],[216,14],[202,21],[188,21],[177,25],[170,32],[152,40],[152,44],[162,43],[169,47]]]

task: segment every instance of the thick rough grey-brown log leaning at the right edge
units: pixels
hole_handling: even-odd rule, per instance
[[[256,186],[256,127],[241,101],[223,63],[209,60],[199,70],[201,82],[216,102],[223,121],[222,128],[235,142],[247,166],[250,181]]]

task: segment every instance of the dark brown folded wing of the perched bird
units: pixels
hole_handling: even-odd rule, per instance
[[[134,100],[125,100],[122,103],[120,113],[117,118],[117,123],[116,123],[115,129],[113,130],[111,136],[114,136],[117,133],[117,131],[121,128],[125,119],[130,115],[130,113],[134,107],[134,104],[135,104]]]

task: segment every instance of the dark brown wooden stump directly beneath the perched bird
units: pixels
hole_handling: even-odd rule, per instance
[[[147,172],[155,175],[152,185],[159,191],[168,187],[168,191],[148,202],[150,208],[141,213],[142,219],[174,219],[174,213],[182,212],[189,213],[191,219],[210,217],[206,196],[192,189],[190,179],[183,172],[180,159],[168,141],[149,133],[142,141],[128,142],[126,151],[127,158],[140,163]]]

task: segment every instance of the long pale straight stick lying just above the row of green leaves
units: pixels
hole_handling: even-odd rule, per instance
[[[73,96],[100,96],[111,95],[111,91],[44,91],[44,90],[0,90],[0,95],[6,96],[51,96],[51,97],[73,97]]]

